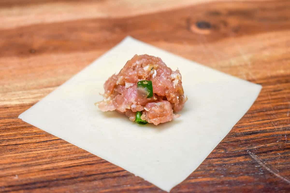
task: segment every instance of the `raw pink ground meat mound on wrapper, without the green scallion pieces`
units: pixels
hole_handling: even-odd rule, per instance
[[[152,82],[153,96],[147,98],[148,91],[137,87],[137,82]],[[142,81],[147,84],[147,81]],[[180,111],[187,97],[184,97],[181,74],[172,71],[157,57],[135,55],[118,74],[113,74],[104,84],[104,100],[97,102],[102,111],[118,111],[135,121],[136,112],[141,111],[141,119],[158,125],[179,117],[173,113]]]

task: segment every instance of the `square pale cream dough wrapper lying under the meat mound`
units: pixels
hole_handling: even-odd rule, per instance
[[[171,69],[178,67],[188,96],[181,117],[142,126],[94,106],[102,100],[104,82],[135,54],[157,56]],[[260,85],[128,36],[19,118],[169,192],[202,163],[260,90]]]

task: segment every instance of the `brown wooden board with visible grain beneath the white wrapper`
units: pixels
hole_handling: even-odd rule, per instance
[[[288,0],[0,1],[0,192],[163,192],[17,118],[127,35],[263,86],[171,192],[290,192],[289,10]]]

